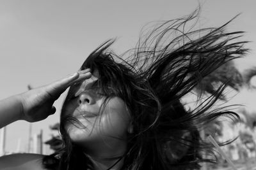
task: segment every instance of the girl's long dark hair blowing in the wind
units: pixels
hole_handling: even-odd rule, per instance
[[[209,97],[196,108],[186,110],[180,102],[218,67],[247,52],[245,41],[234,41],[243,32],[224,31],[228,23],[194,31],[192,25],[186,30],[186,24],[196,17],[197,12],[157,23],[152,31],[144,31],[136,48],[122,57],[108,50],[113,40],[107,41],[81,66],[97,69],[102,92],[122,98],[131,112],[133,133],[123,157],[124,169],[199,169],[200,162],[215,161],[214,157],[202,157],[202,153],[214,153],[200,138],[200,129],[222,115],[237,117],[227,108],[212,108],[228,81],[210,90]],[[45,167],[92,168],[90,159],[65,132],[67,121],[76,122],[74,118],[61,118],[63,149],[46,156]]]

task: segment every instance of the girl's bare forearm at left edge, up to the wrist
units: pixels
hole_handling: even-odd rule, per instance
[[[12,96],[0,101],[0,128],[20,120],[22,104],[20,96]]]

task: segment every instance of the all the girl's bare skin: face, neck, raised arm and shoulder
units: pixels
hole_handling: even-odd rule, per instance
[[[49,85],[29,90],[0,101],[0,128],[17,120],[37,122],[55,113],[52,104],[70,86],[74,96],[68,96],[63,107],[63,116],[76,117],[84,129],[67,124],[66,129],[73,143],[81,146],[93,162],[94,169],[108,169],[122,156],[127,146],[127,129],[129,127],[129,111],[119,97],[111,97],[99,115],[99,110],[106,96],[95,90],[93,84],[99,78],[90,69],[79,71]],[[75,85],[74,85],[75,84]],[[90,114],[88,114],[90,113]],[[81,115],[82,114],[82,115]],[[0,169],[44,169],[44,155],[18,153],[0,157]],[[112,169],[120,169],[123,160]]]

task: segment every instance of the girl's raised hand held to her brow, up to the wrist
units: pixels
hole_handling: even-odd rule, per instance
[[[70,85],[86,80],[90,76],[92,76],[90,69],[84,69],[49,85],[20,94],[22,104],[20,119],[28,122],[44,120],[55,113],[56,108],[52,104]]]

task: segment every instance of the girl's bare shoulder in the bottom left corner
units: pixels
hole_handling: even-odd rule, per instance
[[[44,155],[33,153],[16,153],[0,157],[0,169],[2,170],[45,170],[42,165]]]

